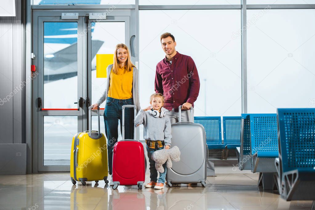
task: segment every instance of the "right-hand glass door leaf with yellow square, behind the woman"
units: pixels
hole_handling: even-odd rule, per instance
[[[94,104],[105,91],[107,78],[105,78],[104,73],[107,65],[113,63],[116,45],[126,44],[130,50],[130,18],[129,16],[111,16],[100,21],[92,19],[89,20],[89,27],[91,30],[88,31],[88,78],[91,79],[88,80],[88,94],[91,104]],[[103,66],[96,69],[96,64],[100,64],[99,60],[104,61]],[[104,114],[104,107],[105,102],[100,105],[101,116]],[[105,125],[102,119],[101,117],[100,129],[105,134]],[[92,113],[92,126],[97,128],[96,113]],[[119,124],[118,129],[120,129]],[[120,140],[120,132],[118,135],[118,140]]]

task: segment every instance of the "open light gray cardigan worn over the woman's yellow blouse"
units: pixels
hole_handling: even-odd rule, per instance
[[[103,93],[103,95],[100,97],[100,99],[96,102],[99,105],[101,105],[104,101],[106,101],[107,95],[108,95],[108,87],[109,87],[109,80],[110,80],[110,75],[112,71],[113,64],[108,65],[106,69],[107,73],[107,85],[106,89]],[[134,105],[137,107],[137,112],[141,109],[140,107],[140,101],[139,101],[139,70],[137,68],[133,68],[133,80],[132,80],[132,97],[134,100]]]

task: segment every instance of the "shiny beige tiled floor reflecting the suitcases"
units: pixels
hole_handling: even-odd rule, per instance
[[[219,174],[207,186],[174,186],[137,190],[104,181],[72,185],[70,175],[28,174],[0,176],[0,209],[310,209],[312,202],[286,202],[257,188],[258,174]],[[148,175],[146,181],[149,181]]]

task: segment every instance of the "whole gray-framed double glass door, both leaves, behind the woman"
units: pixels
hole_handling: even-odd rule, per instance
[[[70,171],[72,137],[88,130],[88,106],[105,89],[106,78],[96,75],[96,58],[107,59],[104,54],[111,56],[118,43],[129,47],[128,15],[94,20],[91,11],[66,14],[71,17],[33,13],[33,172]],[[96,124],[93,117],[92,128]]]

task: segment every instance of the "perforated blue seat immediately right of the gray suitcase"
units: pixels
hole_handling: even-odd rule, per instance
[[[221,117],[194,117],[194,122],[203,125],[206,131],[208,149],[224,149]]]

